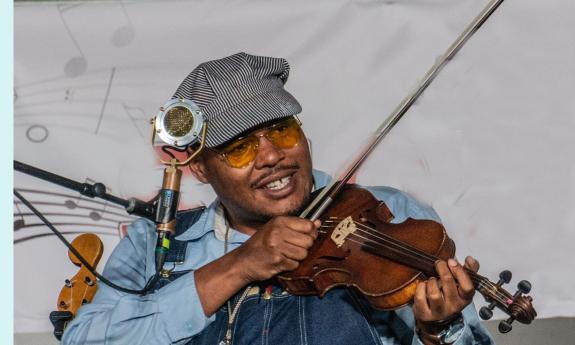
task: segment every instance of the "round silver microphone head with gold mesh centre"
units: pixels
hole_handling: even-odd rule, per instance
[[[205,119],[189,99],[176,98],[160,108],[154,119],[155,134],[168,145],[185,148],[200,140]]]

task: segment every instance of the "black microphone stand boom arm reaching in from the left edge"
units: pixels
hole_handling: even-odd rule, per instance
[[[48,172],[46,170],[42,170],[19,162],[17,160],[14,160],[14,170],[74,190],[90,198],[98,197],[107,200],[111,203],[124,207],[128,214],[133,214],[139,217],[148,218],[151,221],[155,221],[157,197],[152,199],[150,202],[142,201],[136,198],[122,199],[112,194],[106,193],[106,186],[103,183],[80,183],[69,178]]]

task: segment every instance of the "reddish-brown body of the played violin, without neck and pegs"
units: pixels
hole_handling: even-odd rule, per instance
[[[351,220],[348,217],[369,229],[355,229],[345,236],[346,222]],[[374,255],[370,251],[381,249],[379,245],[374,248],[374,240],[391,237],[443,260],[455,255],[455,244],[437,222],[407,219],[392,224],[392,219],[385,203],[370,192],[345,187],[321,217],[322,227],[308,257],[295,271],[280,275],[279,281],[295,295],[323,296],[338,286],[353,287],[374,307],[384,310],[411,302],[417,283],[434,275],[433,271],[426,272],[433,270],[433,265],[410,264],[409,258],[393,250],[382,249],[381,255]]]

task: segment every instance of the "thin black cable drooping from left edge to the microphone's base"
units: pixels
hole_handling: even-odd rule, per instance
[[[80,260],[80,262],[86,266],[86,268],[92,272],[92,274],[94,274],[98,279],[100,279],[100,281],[106,285],[108,285],[109,287],[116,289],[118,291],[122,291],[125,293],[129,293],[129,294],[133,294],[133,295],[145,295],[147,294],[158,282],[159,278],[160,278],[160,270],[161,268],[156,268],[156,273],[150,278],[150,280],[148,280],[148,282],[146,283],[146,286],[144,286],[144,288],[142,290],[133,290],[133,289],[128,289],[125,287],[121,287],[119,285],[116,285],[114,283],[112,283],[111,281],[109,281],[106,277],[102,276],[100,273],[96,272],[95,268],[92,267],[92,265],[90,265],[88,263],[88,261],[86,261],[86,259],[84,259],[84,257],[78,253],[78,251],[76,250],[76,248],[74,248],[72,246],[72,244],[70,244],[70,242],[68,242],[68,240],[66,240],[66,238],[64,238],[64,236],[62,235],[62,233],[60,233],[60,231],[58,231],[54,225],[44,217],[44,215],[42,215],[42,213],[40,213],[40,211],[38,211],[34,206],[32,206],[32,204],[26,199],[24,198],[20,193],[18,193],[16,191],[16,189],[14,189],[14,195],[20,199],[20,201],[22,201],[22,203],[24,205],[26,205],[26,207],[28,207],[32,212],[34,212],[34,214],[36,216],[38,216],[38,218],[40,218],[40,220],[42,222],[44,222],[44,224],[46,224],[46,226],[48,228],[50,228],[50,230],[52,230],[52,232],[60,239],[60,241],[62,241],[62,243],[64,243],[64,245],[66,247],[68,247],[68,249],[72,252],[72,254],[74,254],[78,260]]]

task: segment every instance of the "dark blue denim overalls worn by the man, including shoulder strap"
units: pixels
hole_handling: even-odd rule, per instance
[[[177,235],[196,222],[202,212],[203,209],[194,209],[179,213]],[[166,261],[184,261],[187,242],[177,240],[172,242]],[[168,278],[160,280],[158,288],[188,272],[173,272]],[[232,298],[232,308],[242,292],[243,290],[239,291]],[[400,341],[402,344],[411,344],[413,332],[394,318],[393,313],[374,310],[363,297],[351,289],[334,289],[324,298],[319,298],[294,296],[273,282],[261,282],[250,290],[248,297],[239,307],[232,328],[232,343],[382,345],[374,326],[376,315],[378,327],[383,328],[387,334],[393,334],[389,323],[395,323],[396,330],[405,327],[406,329],[399,332],[405,339]],[[215,317],[214,322],[193,336],[186,344],[219,344],[227,330],[227,306],[220,308]]]

